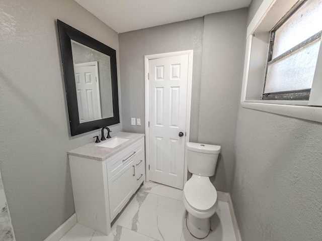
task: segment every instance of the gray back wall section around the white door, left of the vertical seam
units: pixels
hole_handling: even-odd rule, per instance
[[[194,50],[190,140],[197,141],[203,18],[119,35],[123,130],[144,133],[144,55]],[[131,126],[131,117],[141,126]]]

